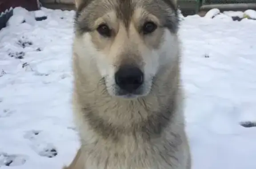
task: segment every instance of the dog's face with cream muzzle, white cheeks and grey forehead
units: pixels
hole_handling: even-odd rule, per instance
[[[76,0],[79,57],[94,60],[108,93],[147,95],[160,67],[176,59],[175,0]]]

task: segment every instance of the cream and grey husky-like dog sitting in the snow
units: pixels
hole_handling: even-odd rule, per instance
[[[176,0],[76,0],[64,169],[191,169]]]

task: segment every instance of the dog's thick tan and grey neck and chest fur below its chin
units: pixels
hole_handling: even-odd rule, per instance
[[[84,97],[76,97],[74,113],[80,130],[83,169],[185,169],[186,139],[183,114],[176,106],[178,98],[161,97],[154,106],[147,105],[146,112],[139,102],[133,102],[136,109],[132,109],[121,103],[116,106],[113,99],[107,104],[111,111],[104,111],[105,104],[81,108]],[[97,101],[103,102],[101,99]]]

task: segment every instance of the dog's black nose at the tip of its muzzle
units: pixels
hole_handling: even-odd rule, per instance
[[[120,89],[132,93],[143,84],[144,74],[138,67],[122,66],[116,72],[115,80]]]

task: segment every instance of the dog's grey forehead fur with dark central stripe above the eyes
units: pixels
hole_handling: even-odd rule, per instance
[[[84,0],[76,11],[76,24],[89,31],[95,20],[108,12],[115,12],[125,27],[129,26],[136,9],[144,9],[156,16],[163,26],[174,30],[177,25],[177,11],[175,0]],[[86,30],[87,28],[87,30]]]

